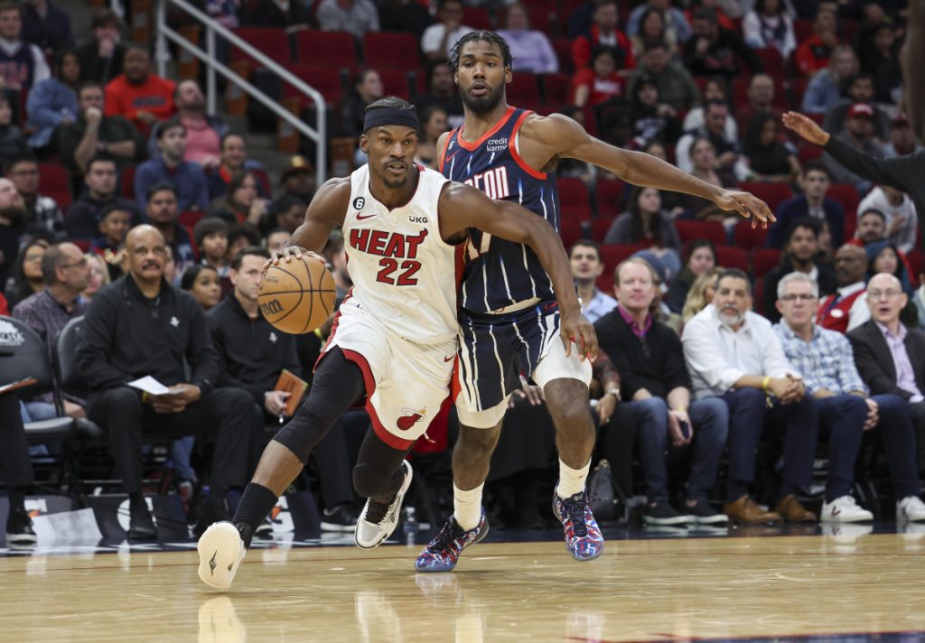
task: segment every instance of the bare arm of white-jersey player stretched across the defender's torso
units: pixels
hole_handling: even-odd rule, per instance
[[[466,229],[475,228],[530,246],[552,279],[565,351],[571,352],[574,341],[579,357],[597,358],[598,336],[581,314],[568,256],[559,235],[546,219],[510,201],[493,201],[475,188],[456,182],[443,188],[439,208],[440,235],[449,243],[460,241]]]

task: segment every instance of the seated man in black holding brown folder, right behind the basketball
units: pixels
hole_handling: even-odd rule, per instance
[[[260,277],[270,253],[252,246],[238,253],[231,262],[228,277],[234,292],[206,315],[218,353],[218,386],[246,390],[253,399],[253,417],[261,429],[267,424],[282,425],[289,393],[274,390],[285,368],[302,377],[296,353],[296,337],[270,326],[257,304]],[[325,508],[321,528],[352,531],[356,526],[351,471],[356,464],[369,417],[362,409],[351,410],[322,439],[315,450],[315,465],[321,482]],[[255,434],[250,448],[248,475],[252,475],[264,451],[263,430]]]

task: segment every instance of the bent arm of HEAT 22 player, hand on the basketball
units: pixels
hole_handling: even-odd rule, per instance
[[[290,261],[290,256],[298,259],[302,254],[314,255],[325,261],[320,253],[325,249],[331,230],[343,225],[349,201],[350,178],[328,179],[314,193],[312,203],[305,211],[305,220],[292,233],[289,245],[280,253],[274,253],[266,266],[278,264],[279,259]]]

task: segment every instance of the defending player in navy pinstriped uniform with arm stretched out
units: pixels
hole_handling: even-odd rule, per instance
[[[437,143],[440,171],[448,179],[493,199],[522,204],[559,229],[555,169],[560,158],[576,158],[635,185],[709,199],[723,210],[751,217],[753,226],[774,220],[768,206],[747,192],[723,190],[654,156],[600,142],[571,118],[539,117],[508,105],[511,52],[492,31],[463,36],[453,47],[450,65],[465,122]],[[470,230],[466,259],[460,289],[456,409],[461,427],[453,451],[454,513],[415,567],[450,571],[462,549],[487,528],[482,487],[508,398],[519,388],[514,364],[543,388],[556,427],[560,479],[553,512],[564,528],[566,547],[579,561],[597,558],[604,541],[585,488],[595,440],[588,405],[591,369],[579,360],[587,347],[578,345],[577,354],[567,355],[553,341],[560,332],[556,291],[529,248]],[[619,390],[607,392],[619,397]]]

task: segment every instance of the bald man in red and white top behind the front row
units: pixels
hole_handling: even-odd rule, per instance
[[[816,324],[845,334],[870,319],[865,297],[867,265],[867,253],[856,245],[845,244],[835,252],[838,289],[821,301]]]

